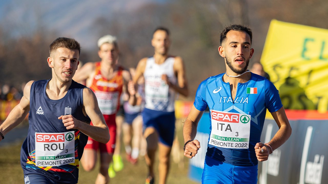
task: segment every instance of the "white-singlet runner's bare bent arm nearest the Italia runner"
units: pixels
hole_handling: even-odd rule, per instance
[[[175,57],[175,62],[173,65],[174,73],[176,74],[178,85],[173,85],[168,83],[170,87],[172,87],[176,92],[181,95],[187,97],[189,95],[188,91],[188,83],[186,78],[186,71],[183,60],[181,57]]]

